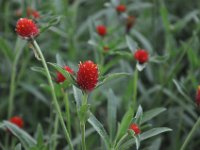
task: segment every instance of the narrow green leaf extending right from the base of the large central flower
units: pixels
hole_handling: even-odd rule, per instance
[[[117,78],[122,78],[122,77],[127,77],[127,76],[131,76],[131,74],[130,73],[124,73],[124,72],[108,74],[106,77],[104,77],[104,79],[102,81],[99,82],[97,87],[103,85],[104,83],[106,83],[106,82],[108,82],[110,80],[117,79]]]

